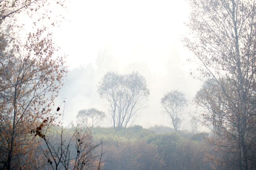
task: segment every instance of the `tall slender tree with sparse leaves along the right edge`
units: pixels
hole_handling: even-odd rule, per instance
[[[202,79],[214,79],[218,96],[223,99],[220,113],[224,122],[219,122],[221,135],[215,144],[224,153],[236,155],[237,169],[253,168],[255,157],[248,151],[255,142],[255,133],[251,132],[256,131],[256,2],[189,2],[192,33],[185,42],[201,62]]]

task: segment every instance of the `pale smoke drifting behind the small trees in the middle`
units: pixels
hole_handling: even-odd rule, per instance
[[[82,65],[69,70],[68,76],[65,79],[65,85],[61,89],[56,104],[66,98],[64,123],[69,124],[71,120],[75,121],[76,114],[81,109],[95,107],[108,113],[106,101],[100,99],[97,93],[97,85],[100,79],[108,71],[115,71],[121,74],[138,71],[143,75],[150,89],[147,107],[139,111],[139,116],[134,124],[139,124],[143,127],[154,126],[155,124],[171,126],[170,120],[163,113],[160,106],[161,97],[167,91],[179,90],[186,94],[189,101],[200,88],[200,81],[191,77],[186,57],[180,56],[182,48],[173,47],[170,51],[172,55],[167,58],[167,62],[162,63],[161,72],[156,72],[154,67],[147,62],[131,62],[122,63],[114,59],[113,53],[108,50],[98,52],[98,57],[95,61],[96,67],[93,64]],[[193,105],[188,105],[184,110],[182,118],[184,123],[182,128],[189,129],[190,117],[188,112],[193,110]],[[110,121],[106,120],[104,126],[110,126]]]

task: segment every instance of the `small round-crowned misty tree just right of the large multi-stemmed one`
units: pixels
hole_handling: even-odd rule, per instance
[[[178,131],[182,123],[181,111],[187,105],[185,94],[177,90],[168,92],[161,98],[161,105],[171,118],[174,130]]]

